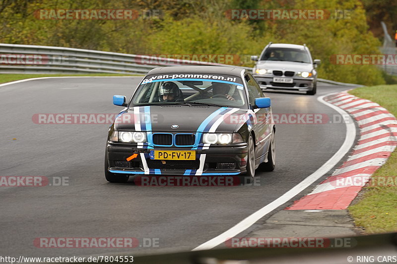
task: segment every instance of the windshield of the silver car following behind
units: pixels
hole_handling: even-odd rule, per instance
[[[295,61],[311,63],[309,54],[305,50],[288,48],[268,48],[261,60]]]

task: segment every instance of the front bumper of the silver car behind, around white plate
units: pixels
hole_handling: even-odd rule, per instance
[[[313,90],[315,78],[303,78],[303,77],[284,77],[284,76],[273,76],[273,75],[253,75],[257,82],[261,85],[262,90],[265,89],[279,89],[279,90],[294,90],[294,91],[311,91]],[[293,83],[275,83],[273,82],[274,77],[282,78],[293,78]]]

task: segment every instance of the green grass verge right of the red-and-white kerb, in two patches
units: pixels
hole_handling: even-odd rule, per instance
[[[350,94],[371,100],[397,116],[397,85],[361,87]],[[377,176],[395,176],[386,184],[375,184]],[[397,150],[373,175],[372,182],[364,187],[362,199],[348,210],[355,224],[365,228],[367,234],[397,231]],[[387,185],[389,184],[389,185]],[[373,186],[379,185],[379,186]],[[383,185],[383,186],[382,186]]]

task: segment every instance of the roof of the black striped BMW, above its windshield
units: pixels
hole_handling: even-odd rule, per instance
[[[185,66],[167,66],[167,67],[158,67],[149,71],[147,74],[164,74],[164,73],[214,73],[214,74],[227,74],[227,75],[235,75],[241,76],[241,71],[243,68],[237,68],[233,66],[194,66],[194,65],[185,65]]]

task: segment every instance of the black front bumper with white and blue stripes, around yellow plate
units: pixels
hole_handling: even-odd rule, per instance
[[[246,143],[195,149],[196,160],[164,160],[165,163],[158,159],[150,159],[150,151],[191,151],[192,149],[176,147],[147,149],[128,145],[130,144],[108,142],[106,152],[109,172],[128,175],[238,175],[246,172],[248,154]],[[133,154],[137,154],[136,157],[127,161],[127,158]]]

